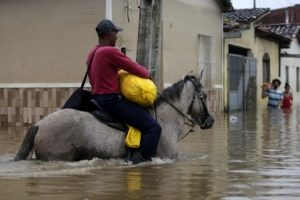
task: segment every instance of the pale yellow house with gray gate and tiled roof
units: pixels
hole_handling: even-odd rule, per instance
[[[265,32],[257,22],[269,9],[239,9],[224,19],[224,107],[226,111],[264,108],[261,85],[280,77],[279,48],[290,39]]]

